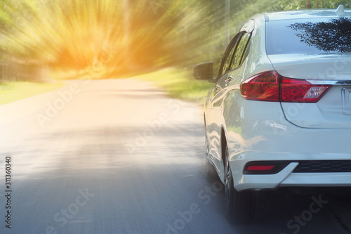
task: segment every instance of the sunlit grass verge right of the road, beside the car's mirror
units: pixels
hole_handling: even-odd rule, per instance
[[[208,89],[213,85],[209,82],[192,78],[189,71],[167,68],[137,77],[143,81],[152,82],[164,89],[172,98],[193,100],[204,103]]]

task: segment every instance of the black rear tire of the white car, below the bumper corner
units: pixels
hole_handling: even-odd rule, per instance
[[[227,147],[225,149],[225,207],[230,223],[250,223],[255,216],[256,193],[250,190],[241,192],[235,190]]]

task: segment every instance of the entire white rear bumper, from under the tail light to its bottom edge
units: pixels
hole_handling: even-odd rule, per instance
[[[286,120],[280,103],[239,100],[241,108],[225,111],[224,124],[234,188],[351,187],[351,170],[294,171],[302,161],[351,160],[351,129],[302,128]],[[244,174],[256,161],[288,164],[276,174]]]

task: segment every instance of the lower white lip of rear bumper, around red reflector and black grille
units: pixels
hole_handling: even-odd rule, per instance
[[[331,155],[289,155],[286,167],[276,174],[244,174],[248,162],[274,162],[286,159],[288,155],[265,152],[243,152],[230,157],[230,167],[234,178],[234,188],[275,189],[279,187],[351,187],[351,172],[307,172],[294,171],[300,162],[306,160],[329,160]],[[350,160],[350,155],[333,155],[334,160]]]

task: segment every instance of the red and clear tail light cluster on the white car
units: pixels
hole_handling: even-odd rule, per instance
[[[317,103],[330,87],[282,77],[271,71],[246,79],[241,83],[240,91],[241,96],[248,100]]]

